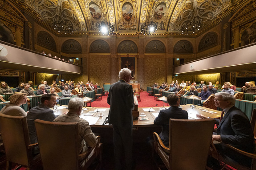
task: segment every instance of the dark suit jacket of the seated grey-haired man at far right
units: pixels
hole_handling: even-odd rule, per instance
[[[219,123],[217,134],[221,135],[223,143],[230,144],[240,150],[252,153],[254,151],[254,134],[248,117],[235,106],[225,113]]]

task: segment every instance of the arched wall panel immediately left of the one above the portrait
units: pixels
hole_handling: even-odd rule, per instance
[[[61,52],[66,54],[81,54],[82,46],[77,40],[66,40],[61,46]]]

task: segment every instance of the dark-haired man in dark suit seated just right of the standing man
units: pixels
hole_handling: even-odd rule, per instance
[[[179,108],[179,96],[170,94],[167,96],[167,102],[170,107],[161,110],[158,117],[154,119],[154,125],[161,125],[162,132],[159,134],[163,144],[169,147],[169,120],[170,119],[188,119],[187,111]]]

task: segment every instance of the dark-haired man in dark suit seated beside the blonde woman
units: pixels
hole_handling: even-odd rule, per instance
[[[41,96],[41,104],[37,107],[33,107],[28,111],[27,122],[28,122],[28,131],[29,138],[31,143],[37,142],[37,132],[34,120],[40,119],[52,122],[57,116],[54,115],[53,110],[49,109],[54,107],[56,104],[56,95],[46,94]],[[39,153],[38,146],[33,150],[34,154]]]

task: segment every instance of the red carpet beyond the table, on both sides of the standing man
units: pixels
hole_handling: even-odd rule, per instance
[[[156,104],[158,104],[157,107],[163,107],[163,101],[161,100],[154,100],[154,96],[148,96],[146,91],[142,91],[140,93],[140,99],[138,100],[138,107],[153,107]],[[92,107],[110,107],[110,105],[107,103],[107,95],[102,96],[102,100],[95,100],[91,103]],[[165,103],[165,107],[167,106],[167,103]]]

